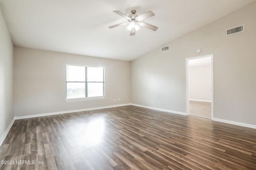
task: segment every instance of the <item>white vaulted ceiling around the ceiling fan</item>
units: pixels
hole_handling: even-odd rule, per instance
[[[255,0],[0,0],[15,46],[131,61]],[[129,15],[148,10],[141,28],[130,36],[114,10]]]

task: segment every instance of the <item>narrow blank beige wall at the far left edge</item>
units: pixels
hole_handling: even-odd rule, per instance
[[[0,140],[14,117],[12,106],[12,69],[12,39],[0,10]],[[10,117],[9,112],[11,112]]]

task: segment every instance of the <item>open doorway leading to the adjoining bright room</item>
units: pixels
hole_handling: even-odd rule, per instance
[[[186,115],[213,119],[213,55],[186,58]]]

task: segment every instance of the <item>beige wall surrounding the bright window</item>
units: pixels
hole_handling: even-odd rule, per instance
[[[66,64],[105,67],[106,99],[65,102]],[[129,103],[130,62],[14,47],[15,116]]]

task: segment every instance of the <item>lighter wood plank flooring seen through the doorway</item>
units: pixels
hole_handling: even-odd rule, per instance
[[[212,102],[189,101],[189,115],[211,119]]]

